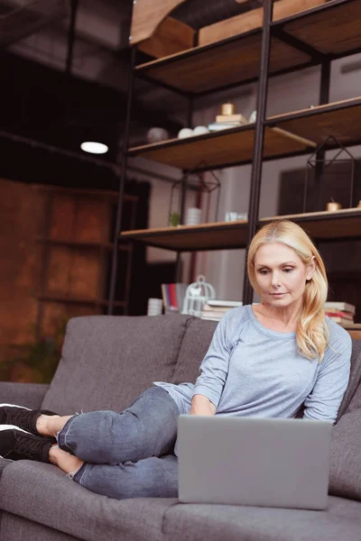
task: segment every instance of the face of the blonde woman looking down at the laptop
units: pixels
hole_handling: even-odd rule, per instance
[[[255,252],[255,280],[262,301],[273,307],[289,307],[299,301],[315,270],[282,243],[265,243]]]

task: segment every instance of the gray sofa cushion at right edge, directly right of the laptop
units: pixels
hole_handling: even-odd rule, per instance
[[[361,408],[347,411],[332,429],[329,493],[361,501]]]

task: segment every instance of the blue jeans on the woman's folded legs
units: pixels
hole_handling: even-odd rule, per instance
[[[58,434],[61,449],[85,463],[73,480],[109,498],[177,498],[178,463],[172,453],[180,411],[160,387],[145,390],[122,413],[71,417]]]

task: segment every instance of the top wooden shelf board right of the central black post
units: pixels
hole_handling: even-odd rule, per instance
[[[284,32],[320,52],[338,56],[361,48],[360,19],[359,0],[333,0],[273,25],[282,25]]]

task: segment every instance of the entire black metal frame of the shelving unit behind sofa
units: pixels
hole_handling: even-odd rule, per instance
[[[245,37],[248,37],[250,35],[254,35],[257,33],[262,32],[262,43],[261,43],[261,59],[260,59],[260,70],[259,70],[259,77],[258,78],[251,78],[244,81],[240,81],[239,83],[232,83],[226,86],[221,87],[214,87],[212,89],[202,91],[199,93],[190,93],[190,92],[184,92],[176,87],[171,87],[170,85],[164,84],[161,81],[157,81],[156,79],[147,77],[145,74],[146,72],[146,65],[144,65],[144,69],[141,68],[141,66],[136,66],[136,47],[134,46],[133,52],[132,52],[132,61],[131,61],[131,68],[130,68],[130,77],[129,77],[129,89],[128,89],[128,99],[127,99],[127,108],[126,108],[126,124],[125,124],[125,135],[124,135],[124,141],[123,141],[123,157],[122,157],[122,171],[120,175],[120,188],[119,188],[119,204],[118,204],[118,214],[117,214],[117,220],[116,220],[116,231],[115,231],[115,244],[117,239],[119,238],[120,231],[120,219],[121,219],[121,206],[122,206],[122,197],[123,197],[123,189],[124,189],[124,182],[125,182],[125,170],[126,170],[126,161],[127,157],[129,155],[132,155],[132,152],[128,151],[128,143],[129,143],[129,131],[130,131],[130,119],[131,119],[131,110],[132,110],[132,102],[133,102],[133,91],[134,91],[134,75],[138,78],[143,78],[144,80],[147,80],[148,82],[151,82],[152,84],[155,84],[159,87],[165,87],[168,90],[172,92],[176,92],[180,94],[181,96],[184,96],[189,100],[189,108],[188,108],[188,121],[189,125],[191,124],[192,114],[193,114],[193,107],[194,107],[194,100],[201,96],[206,96],[210,93],[216,93],[218,91],[225,90],[227,88],[233,88],[233,87],[242,87],[247,84],[250,84],[252,82],[257,81],[257,119],[255,123],[255,146],[254,146],[254,153],[253,153],[253,161],[252,161],[252,175],[251,175],[251,191],[250,191],[250,198],[249,198],[249,213],[248,213],[248,244],[250,243],[252,237],[254,236],[256,232],[257,225],[260,225],[259,223],[259,204],[260,204],[260,189],[261,189],[261,179],[262,179],[262,166],[264,160],[279,160],[282,158],[289,158],[292,156],[298,156],[301,154],[308,153],[307,149],[303,151],[294,151],[292,153],[285,153],[284,156],[276,156],[276,157],[270,157],[270,158],[263,158],[264,153],[264,129],[268,126],[275,125],[275,121],[273,119],[266,119],[265,118],[265,109],[266,109],[266,103],[267,103],[267,90],[268,90],[268,80],[270,77],[277,77],[280,75],[284,75],[286,73],[291,73],[293,71],[298,71],[301,69],[309,68],[310,66],[316,66],[320,65],[321,67],[321,77],[320,77],[320,86],[319,86],[319,105],[325,105],[329,103],[329,84],[330,84],[330,62],[332,60],[337,60],[339,58],[347,57],[352,54],[356,54],[357,52],[361,52],[361,47],[357,47],[353,50],[346,50],[342,53],[322,53],[319,50],[316,50],[310,44],[299,40],[298,38],[295,38],[288,32],[284,31],[284,26],[287,23],[291,23],[293,21],[301,20],[302,18],[307,18],[310,16],[310,14],[319,14],[319,13],[326,13],[328,10],[332,10],[334,8],[337,8],[339,5],[347,5],[347,4],[353,4],[354,2],[359,0],[332,0],[331,3],[327,3],[324,5],[319,5],[317,7],[312,8],[311,10],[307,10],[307,12],[301,12],[299,14],[292,14],[288,17],[285,17],[282,20],[274,21],[273,22],[273,3],[274,0],[270,0],[270,2],[264,2],[264,23],[263,27],[261,29],[252,30],[249,32],[245,32],[242,35],[236,35],[232,36],[230,38],[227,38],[222,41],[217,41],[214,43],[209,43],[208,45],[202,47],[198,50],[187,50],[184,53],[182,53],[182,58],[187,58],[192,55],[197,55],[200,53],[203,53],[205,51],[211,51],[215,48],[218,48],[219,45],[226,44],[227,42],[231,41],[239,41],[242,39],[245,39]],[[282,69],[276,72],[273,72],[272,74],[269,73],[270,68],[270,46],[271,46],[271,38],[276,37],[279,40],[291,45],[293,48],[300,50],[302,52],[306,52],[311,60],[308,62],[305,62],[301,65],[297,66],[290,66],[286,69]],[[157,63],[157,66],[166,66],[172,62],[176,62],[179,60],[178,55],[174,55],[171,58],[166,58],[164,60],[160,60]],[[361,103],[361,98],[359,100]],[[353,105],[357,105],[356,103]],[[347,105],[342,104],[335,104],[330,105],[329,110],[337,110],[338,108],[343,108]],[[352,106],[352,105],[351,105]],[[290,115],[282,115],[282,121],[284,120],[292,120],[299,117],[304,117],[307,115],[317,115],[319,111],[317,110],[308,110],[303,112],[297,112],[292,113]],[[245,126],[245,129],[247,126]],[[248,127],[249,129],[249,127]],[[235,131],[242,130],[242,128],[236,128]],[[207,138],[209,135],[200,136],[203,138]],[[361,141],[361,137],[360,137]],[[347,146],[352,146],[352,144],[356,144],[357,142],[351,142]],[[174,144],[174,142],[170,143]],[[175,142],[177,144],[177,142]],[[179,143],[181,144],[181,142]],[[167,143],[164,143],[164,146],[167,146]],[[249,160],[239,160],[239,162],[232,163],[229,165],[235,166],[235,165],[244,165],[245,163],[249,163]],[[227,167],[227,164],[222,164],[222,166],[219,166],[222,168]],[[212,169],[218,169],[218,168],[212,168]],[[207,169],[205,169],[207,170]],[[183,174],[186,173],[186,171],[183,171]],[[320,179],[322,170],[319,169],[317,171],[316,178]],[[184,189],[183,189],[183,196],[182,201],[184,203]],[[180,220],[183,219],[184,214],[184,204],[181,206],[181,215]],[[316,220],[322,220],[324,219],[324,216],[319,216],[318,218],[315,218]],[[180,280],[180,252],[177,252],[177,272],[176,272],[176,278],[175,280]],[[115,283],[116,283],[116,250],[113,252],[113,262],[112,262],[112,275],[111,275],[111,288],[110,288],[110,301],[108,306],[108,314],[113,313],[113,299],[114,299],[114,289],[115,289]],[[243,299],[245,304],[249,304],[252,302],[253,299],[253,289],[251,287],[251,284],[248,280],[248,277],[245,273],[245,281],[244,281],[244,290],[243,290]]]

